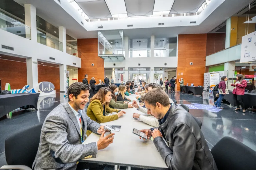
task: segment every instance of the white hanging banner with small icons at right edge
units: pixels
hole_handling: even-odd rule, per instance
[[[256,61],[256,31],[242,37],[240,62]]]

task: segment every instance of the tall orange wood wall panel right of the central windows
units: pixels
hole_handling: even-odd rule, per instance
[[[203,86],[206,39],[207,34],[179,35],[177,78],[183,78],[184,85],[194,83],[194,86]],[[190,65],[190,62],[193,62],[193,65]],[[183,75],[178,75],[182,72]],[[179,83],[177,83],[177,90],[180,90]]]

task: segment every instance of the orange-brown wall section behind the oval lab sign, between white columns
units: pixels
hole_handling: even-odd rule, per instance
[[[60,69],[45,65],[37,65],[38,83],[49,81],[54,85],[54,90],[60,90]]]

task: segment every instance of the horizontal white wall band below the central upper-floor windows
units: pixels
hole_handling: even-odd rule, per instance
[[[116,63],[114,66],[113,64]],[[138,63],[141,65],[138,66]],[[167,65],[164,65],[167,63]],[[105,68],[145,68],[145,67],[174,67],[178,66],[178,57],[141,57],[125,59],[105,59]]]

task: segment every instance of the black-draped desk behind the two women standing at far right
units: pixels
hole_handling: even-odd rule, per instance
[[[217,93],[218,92],[213,91],[214,97]],[[229,91],[229,94],[225,94],[224,99],[227,100],[231,106],[236,106],[236,100],[232,91]],[[256,106],[256,93],[244,93],[242,100],[245,109]]]

